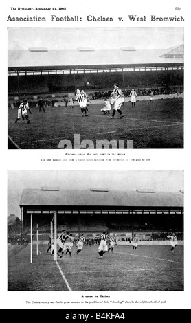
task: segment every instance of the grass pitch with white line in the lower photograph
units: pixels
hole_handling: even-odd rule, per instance
[[[183,291],[183,246],[115,245],[98,259],[98,245],[76,247],[57,262],[47,245],[8,246],[8,291]]]

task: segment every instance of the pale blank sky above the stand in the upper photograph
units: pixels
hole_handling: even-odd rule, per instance
[[[168,49],[183,38],[183,28],[8,28],[8,49]]]

